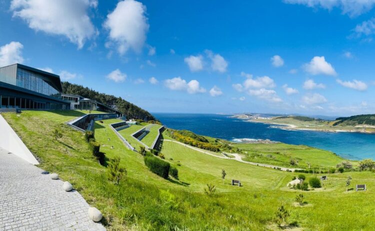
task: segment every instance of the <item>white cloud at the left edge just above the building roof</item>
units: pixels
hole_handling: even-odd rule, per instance
[[[10,42],[0,46],[0,67],[14,63],[22,63],[23,45],[20,42]]]

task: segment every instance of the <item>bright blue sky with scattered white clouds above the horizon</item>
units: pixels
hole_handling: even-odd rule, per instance
[[[375,0],[0,0],[20,62],[151,112],[373,113]]]

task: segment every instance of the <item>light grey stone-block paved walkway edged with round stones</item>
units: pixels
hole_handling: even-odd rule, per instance
[[[105,231],[78,192],[42,171],[0,148],[0,231]]]

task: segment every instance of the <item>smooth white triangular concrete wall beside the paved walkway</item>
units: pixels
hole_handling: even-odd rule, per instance
[[[30,164],[38,165],[32,153],[23,144],[18,135],[0,115],[0,147],[22,158]]]

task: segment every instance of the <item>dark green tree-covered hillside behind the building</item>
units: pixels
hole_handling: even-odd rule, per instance
[[[121,97],[99,93],[95,90],[83,87],[81,85],[72,84],[69,82],[62,82],[62,92],[64,94],[80,95],[82,97],[96,100],[99,103],[117,108],[119,112],[126,115],[128,119],[141,119],[141,120],[155,120],[155,117],[146,110],[127,102]]]

